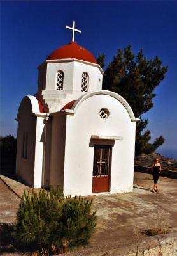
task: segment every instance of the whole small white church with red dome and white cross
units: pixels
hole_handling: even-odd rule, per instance
[[[102,90],[103,69],[72,41],[39,65],[38,92],[17,114],[18,179],[32,188],[60,185],[65,196],[133,188],[136,121],[117,93]]]

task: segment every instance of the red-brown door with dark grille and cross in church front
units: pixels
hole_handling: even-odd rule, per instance
[[[110,191],[111,146],[96,145],[94,147],[94,168],[92,193]]]

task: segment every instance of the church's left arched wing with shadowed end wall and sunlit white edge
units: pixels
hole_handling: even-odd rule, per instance
[[[16,175],[32,188],[41,188],[43,166],[43,118],[39,112],[38,100],[34,96],[24,97],[18,109]],[[27,134],[27,157],[22,157],[23,134]]]

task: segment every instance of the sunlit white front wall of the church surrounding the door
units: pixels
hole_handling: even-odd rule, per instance
[[[108,119],[100,118],[101,108],[107,108],[110,111]],[[110,95],[93,95],[81,102],[73,116],[67,115],[64,195],[92,194],[94,159],[94,141],[90,140],[92,135],[122,137],[122,140],[110,141],[110,143],[115,142],[112,150],[110,192],[132,191],[135,128],[136,123],[131,121],[122,103]],[[109,143],[107,140],[99,140],[99,142]],[[55,143],[55,150],[57,150],[57,143]],[[59,166],[59,161],[55,161],[56,163]],[[54,173],[56,175],[57,169]],[[53,183],[57,185],[55,180]]]

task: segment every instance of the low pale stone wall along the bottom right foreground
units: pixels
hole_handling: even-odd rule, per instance
[[[88,248],[60,254],[61,256],[177,256],[177,232],[145,237],[136,243],[130,241],[128,246],[115,246],[108,250]],[[59,255],[58,255],[59,256]]]

